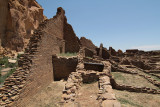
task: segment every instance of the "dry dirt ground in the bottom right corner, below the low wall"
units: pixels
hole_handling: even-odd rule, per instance
[[[160,107],[160,95],[114,90],[122,107]]]

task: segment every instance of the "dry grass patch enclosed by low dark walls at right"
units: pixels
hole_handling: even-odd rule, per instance
[[[153,89],[159,89],[158,87],[154,86],[152,83],[148,82],[143,77],[138,75],[120,73],[120,72],[112,72],[114,79],[119,84],[130,85],[134,87],[149,87]]]

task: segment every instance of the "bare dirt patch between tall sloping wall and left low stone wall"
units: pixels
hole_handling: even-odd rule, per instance
[[[26,107],[59,107],[65,82],[52,82],[48,87],[37,93]]]

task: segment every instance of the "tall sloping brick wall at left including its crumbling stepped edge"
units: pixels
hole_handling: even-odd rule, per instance
[[[57,23],[58,14],[52,20]],[[0,88],[0,104],[24,107],[33,95],[54,80],[52,55],[60,53],[64,40],[47,32],[50,23],[51,20],[45,20],[31,36],[25,54],[19,60],[20,68]],[[58,31],[59,27],[54,29]]]

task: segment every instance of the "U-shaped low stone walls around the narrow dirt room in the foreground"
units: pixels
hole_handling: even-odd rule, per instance
[[[104,64],[103,72],[97,72],[94,70],[85,70],[84,65],[79,63],[77,66],[77,72],[72,72],[67,80],[65,89],[63,91],[63,103],[65,107],[74,105],[75,98],[78,96],[78,90],[83,83],[92,83],[98,81],[99,92],[97,100],[100,107],[121,107],[121,104],[116,100],[110,82],[111,64],[106,61],[102,61]]]

